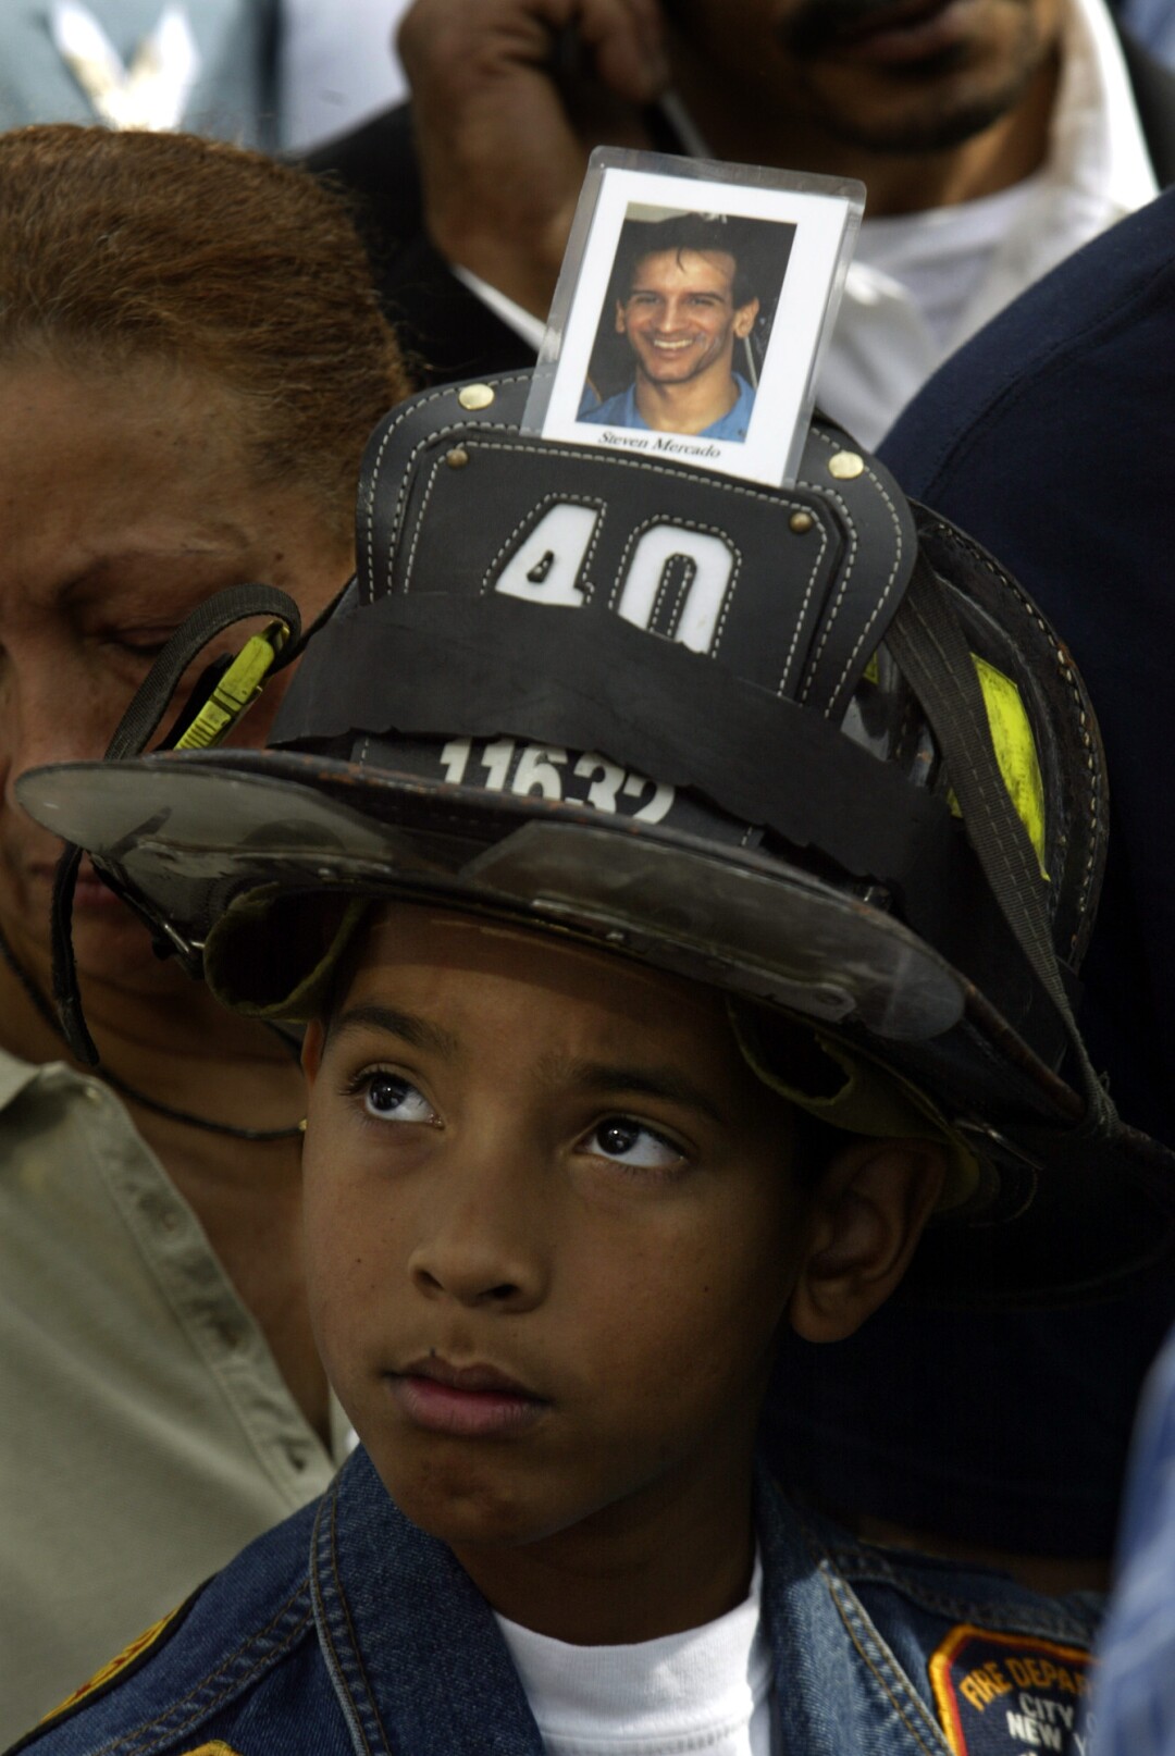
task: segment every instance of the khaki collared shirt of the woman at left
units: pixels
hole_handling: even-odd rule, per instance
[[[118,1098],[0,1050],[0,1747],[330,1457]]]

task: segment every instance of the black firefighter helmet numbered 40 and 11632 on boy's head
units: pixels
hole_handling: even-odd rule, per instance
[[[725,990],[813,1113],[947,1143],[912,1296],[1096,1296],[1161,1259],[1171,1161],[1073,1024],[1107,788],[1036,606],[820,420],[771,488],[525,434],[527,388],[379,425],[357,578],[270,748],[58,764],[21,801],[260,1015],[311,1010],[323,897],[390,892]]]

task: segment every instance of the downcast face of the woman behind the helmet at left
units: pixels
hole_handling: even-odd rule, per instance
[[[169,634],[227,585],[290,592],[304,620],[344,585],[350,544],[306,486],[258,486],[228,393],[158,362],[0,365],[0,924],[47,945],[56,839],[16,804],[30,767],[100,757]],[[179,701],[232,629],[181,685]],[[274,685],[234,741],[260,743]],[[90,873],[79,968],[158,982],[144,929]]]

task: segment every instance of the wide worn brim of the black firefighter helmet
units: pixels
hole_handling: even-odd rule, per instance
[[[193,973],[234,897],[358,890],[509,913],[833,1029],[926,1090],[989,1171],[982,1203],[931,1226],[912,1294],[1099,1296],[1171,1249],[1157,1148],[1126,1127],[1082,1140],[1077,1092],[962,973],[778,855],[297,752],[58,764],[19,795]],[[290,989],[302,973],[292,946]]]

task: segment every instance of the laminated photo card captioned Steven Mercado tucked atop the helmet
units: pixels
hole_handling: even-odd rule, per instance
[[[525,427],[752,481],[794,476],[859,190],[594,155]]]

